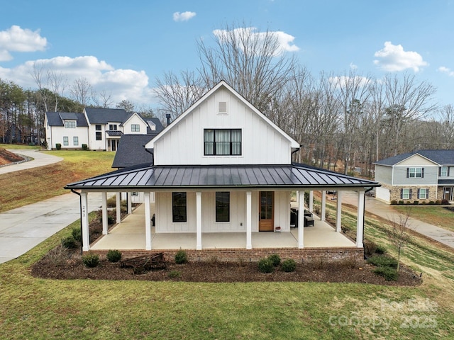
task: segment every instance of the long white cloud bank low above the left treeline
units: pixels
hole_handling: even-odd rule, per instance
[[[133,103],[150,104],[154,100],[145,71],[115,69],[94,56],[54,57],[28,61],[11,69],[0,67],[0,79],[8,79],[25,89],[36,89],[37,86],[32,77],[33,66],[43,70],[43,79],[47,70],[56,74],[61,72],[67,79],[68,86],[64,94],[67,97],[70,97],[70,85],[74,80],[84,77],[95,91],[106,91],[111,94],[115,103],[126,99]]]

